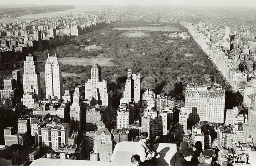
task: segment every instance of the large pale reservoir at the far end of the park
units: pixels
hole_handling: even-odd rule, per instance
[[[129,27],[129,28],[114,28],[116,30],[128,31],[179,31],[178,27],[163,26],[163,27]]]

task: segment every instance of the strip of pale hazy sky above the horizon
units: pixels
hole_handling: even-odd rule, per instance
[[[1,4],[248,6],[256,0],[0,0]]]

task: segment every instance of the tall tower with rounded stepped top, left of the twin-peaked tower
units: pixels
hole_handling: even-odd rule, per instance
[[[26,61],[24,61],[23,91],[24,94],[35,92],[37,100],[41,100],[41,83],[38,63],[36,58],[31,54],[29,54],[26,57]]]

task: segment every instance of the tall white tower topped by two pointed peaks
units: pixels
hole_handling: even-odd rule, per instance
[[[63,95],[63,85],[62,76],[60,71],[59,61],[57,55],[49,56],[44,66],[45,69],[45,92],[46,98],[51,96],[51,98],[62,99]]]

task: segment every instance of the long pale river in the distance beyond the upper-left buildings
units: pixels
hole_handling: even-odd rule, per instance
[[[0,23],[9,23],[9,22],[17,22],[17,21],[27,21],[27,20],[32,20],[32,19],[38,19],[44,17],[55,17],[55,16],[62,16],[62,15],[77,15],[77,14],[85,14],[89,11],[95,11],[98,7],[97,6],[88,6],[88,5],[79,5],[75,6],[75,9],[72,10],[63,10],[63,11],[58,11],[58,12],[51,12],[51,13],[39,13],[39,14],[30,14],[30,15],[24,15],[20,17],[15,17],[15,18],[5,18],[5,19],[0,19]]]

